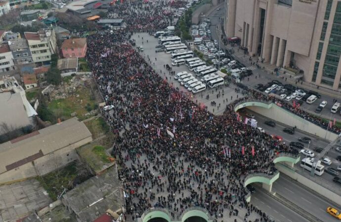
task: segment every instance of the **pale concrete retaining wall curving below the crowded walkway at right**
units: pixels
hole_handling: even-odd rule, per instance
[[[290,111],[286,111],[275,104],[271,104],[269,109],[257,106],[246,106],[247,109],[255,111],[263,116],[266,116],[270,119],[274,119],[278,122],[286,124],[288,126],[296,126],[297,129],[310,133],[312,135],[318,136],[320,138],[325,138],[327,133],[327,140],[334,141],[338,137],[337,134],[332,133],[327,130],[299,117],[298,115],[293,114]]]

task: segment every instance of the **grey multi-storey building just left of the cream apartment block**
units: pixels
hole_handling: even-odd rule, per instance
[[[26,39],[10,40],[8,44],[16,65],[33,63],[31,51]]]

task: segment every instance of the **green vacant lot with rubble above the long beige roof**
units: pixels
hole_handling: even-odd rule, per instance
[[[83,120],[91,117],[91,115],[85,116],[85,113],[97,109],[98,105],[91,90],[79,86],[75,94],[65,99],[52,100],[48,104],[48,108],[55,114],[56,118],[69,119],[71,118],[71,113],[76,112],[76,116]]]

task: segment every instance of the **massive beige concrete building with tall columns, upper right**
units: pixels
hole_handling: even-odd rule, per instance
[[[341,0],[227,0],[224,25],[264,63],[341,88]]]

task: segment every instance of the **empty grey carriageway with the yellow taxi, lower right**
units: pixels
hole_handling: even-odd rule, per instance
[[[299,207],[319,218],[324,222],[338,221],[326,213],[327,207],[338,207],[333,202],[315,194],[288,176],[281,174],[272,185],[272,191],[280,194],[293,203],[299,203]]]

